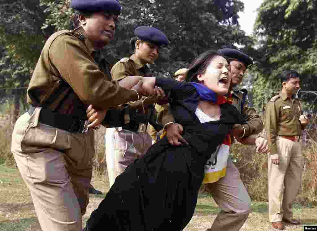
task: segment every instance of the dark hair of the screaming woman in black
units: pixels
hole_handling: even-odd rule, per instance
[[[185,81],[186,82],[198,82],[197,75],[204,74],[206,72],[207,67],[210,62],[217,56],[217,51],[208,50],[199,55],[188,67],[188,71],[186,73]],[[219,55],[222,56],[222,55]],[[227,61],[228,59],[224,57]],[[229,61],[228,61],[229,63]]]

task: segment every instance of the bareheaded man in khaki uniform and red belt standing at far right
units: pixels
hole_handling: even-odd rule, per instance
[[[301,184],[302,144],[308,118],[301,115],[301,100],[294,95],[300,89],[300,75],[294,70],[281,74],[282,91],[266,107],[268,155],[268,215],[273,228],[284,229],[282,221],[300,224],[293,219],[292,203]]]

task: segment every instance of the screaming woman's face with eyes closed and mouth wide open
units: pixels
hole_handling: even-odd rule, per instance
[[[229,71],[230,65],[227,60],[217,55],[210,62],[205,73],[197,75],[197,79],[218,95],[225,95],[228,93],[231,80]]]

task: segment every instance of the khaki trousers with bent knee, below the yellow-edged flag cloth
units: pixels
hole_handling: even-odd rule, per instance
[[[222,209],[207,231],[240,230],[251,212],[251,199],[231,158],[228,159],[226,176],[206,186]]]

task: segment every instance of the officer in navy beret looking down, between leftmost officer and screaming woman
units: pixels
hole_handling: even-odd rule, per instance
[[[131,75],[150,76],[147,64],[153,64],[159,56],[160,47],[169,44],[166,35],[153,27],[137,27],[134,35],[136,37],[130,42],[134,53],[129,58],[122,58],[114,64],[111,69],[113,80],[122,80]],[[136,158],[144,155],[152,145],[152,137],[147,132],[148,121],[156,125],[155,130],[161,130],[159,125],[155,124],[156,112],[153,106],[159,99],[157,95],[143,97],[137,102],[129,103],[130,109],[139,111],[137,117],[131,118],[130,122],[122,127],[107,129],[106,159],[110,187],[115,178]]]

